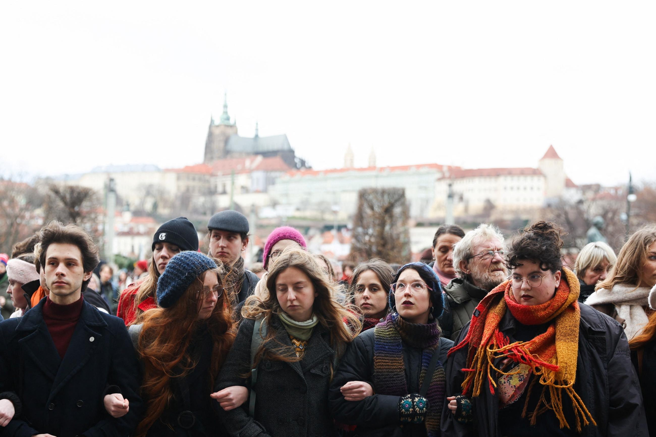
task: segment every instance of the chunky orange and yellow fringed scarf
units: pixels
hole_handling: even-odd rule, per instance
[[[469,346],[467,368],[462,382],[462,394],[479,396],[483,381],[487,383],[491,394],[495,394],[497,383],[491,370],[499,375],[517,373],[519,370],[504,372],[493,364],[497,358],[510,358],[519,364],[531,366],[536,378],[542,385],[540,400],[532,413],[529,413],[531,425],[535,425],[537,416],[547,409],[552,409],[558,417],[560,427],[569,428],[562,406],[563,393],[571,398],[576,417],[576,428],[581,432],[583,425],[596,426],[592,415],[583,404],[583,400],[574,391],[576,379],[577,356],[579,354],[579,280],[569,270],[563,269],[565,275],[554,297],[541,305],[520,305],[512,295],[510,281],[503,282],[489,292],[476,307],[469,332],[459,345],[449,351],[449,355]],[[521,324],[538,325],[552,321],[546,332],[529,341],[510,343],[508,337],[499,332],[499,322],[506,310]],[[535,381],[527,392],[522,417],[526,417],[531,391]]]

